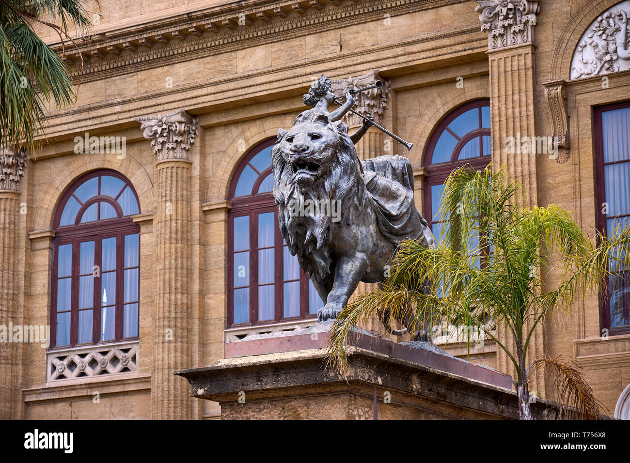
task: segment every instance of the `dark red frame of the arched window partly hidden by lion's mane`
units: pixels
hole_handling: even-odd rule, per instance
[[[275,139],[269,139],[261,142],[255,148],[251,149],[244,157],[243,161],[234,172],[232,183],[229,189],[229,198],[232,207],[227,214],[227,324],[229,328],[237,328],[239,326],[256,326],[285,321],[296,321],[302,319],[314,318],[317,314],[309,314],[309,278],[306,273],[300,269],[300,314],[295,317],[284,317],[284,240],[280,234],[278,227],[278,208],[275,205],[273,194],[271,192],[257,193],[241,197],[234,197],[236,184],[243,172],[245,166],[256,154],[263,149],[273,146]],[[258,191],[260,183],[265,177],[271,173],[271,168],[260,172],[256,179],[252,191]],[[275,235],[274,235],[274,319],[258,320],[258,214],[264,212],[274,212],[275,219]],[[249,217],[249,321],[246,323],[233,323],[234,321],[234,219],[236,217]],[[292,281],[292,280],[287,280]]]

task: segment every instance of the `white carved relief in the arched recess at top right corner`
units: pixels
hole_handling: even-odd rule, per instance
[[[630,0],[604,11],[588,26],[571,61],[571,80],[630,69]]]

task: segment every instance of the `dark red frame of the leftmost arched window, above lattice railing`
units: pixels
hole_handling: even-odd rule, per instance
[[[137,200],[138,195],[135,191],[132,183],[122,174],[117,171],[113,171],[110,169],[98,169],[91,173],[88,173],[81,178],[77,179],[72,183],[70,188],[62,195],[59,205],[57,206],[57,210],[55,212],[54,217],[54,229],[55,229],[55,239],[53,244],[53,254],[52,254],[52,272],[51,272],[51,303],[50,303],[50,349],[64,349],[68,347],[74,346],[88,346],[88,345],[98,345],[98,344],[107,344],[121,340],[137,340],[139,336],[133,336],[130,338],[123,338],[123,290],[124,290],[124,237],[130,234],[139,234],[140,226],[135,223],[130,216],[127,217],[118,217],[114,219],[103,219],[96,220],[95,222],[84,222],[83,224],[79,224],[79,220],[81,220],[81,215],[83,212],[93,203],[98,201],[105,201],[110,203],[114,209],[116,210],[118,215],[122,215],[122,208],[118,205],[117,202],[110,199],[110,197],[106,196],[96,196],[90,198],[87,202],[81,206],[79,212],[77,212],[75,224],[67,225],[67,226],[59,226],[59,222],[61,219],[61,215],[63,213],[64,207],[66,206],[67,200],[73,195],[74,191],[83,183],[90,180],[91,178],[95,178],[101,175],[109,175],[122,180],[126,186],[134,193],[134,196]],[[99,180],[100,182],[100,180]],[[125,187],[122,188],[124,190]],[[121,193],[122,193],[121,190]],[[138,208],[140,208],[140,203],[138,202]],[[100,207],[97,208],[98,216],[100,217]],[[84,241],[94,241],[95,242],[95,262],[94,265],[98,265],[99,268],[103,268],[101,265],[101,241],[103,239],[107,239],[110,237],[117,237],[116,246],[117,246],[117,254],[116,254],[116,304],[115,304],[115,339],[114,340],[105,340],[100,341],[100,325],[101,325],[101,302],[100,302],[100,290],[97,292],[95,290],[94,302],[92,307],[92,341],[89,343],[78,344],[78,331],[79,331],[79,247],[80,243]],[[60,345],[57,346],[57,258],[59,257],[58,249],[59,246],[64,244],[72,244],[72,277],[71,277],[71,315],[70,315],[70,344],[69,345]],[[129,267],[125,270],[129,270]],[[138,265],[137,268],[140,268],[140,253],[138,253]],[[138,276],[140,278],[140,276]],[[101,277],[95,277],[95,288],[100,287]],[[139,297],[139,295],[138,295]],[[131,302],[127,302],[131,303]],[[140,307],[139,300],[136,302],[138,304],[138,308]],[[138,310],[138,317],[140,316],[140,310]],[[139,329],[139,320],[138,320],[138,329]]]

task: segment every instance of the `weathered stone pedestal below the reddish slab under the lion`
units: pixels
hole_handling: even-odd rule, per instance
[[[234,419],[517,419],[515,392],[478,380],[347,347],[347,381],[324,368],[325,349],[226,358],[175,374],[191,396],[217,401]],[[532,403],[536,419],[555,404]]]

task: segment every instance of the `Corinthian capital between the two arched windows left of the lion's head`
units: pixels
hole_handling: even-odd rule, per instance
[[[183,109],[169,114],[136,117],[142,125],[144,137],[151,140],[157,162],[184,159],[190,161],[190,146],[198,135],[197,118]]]

